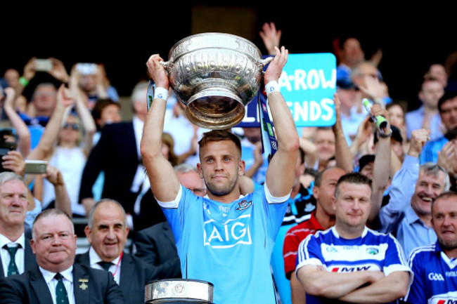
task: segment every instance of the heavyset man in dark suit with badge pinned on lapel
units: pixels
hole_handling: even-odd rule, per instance
[[[124,303],[112,275],[73,265],[76,238],[66,213],[41,212],[34,220],[31,241],[39,267],[0,279],[0,303]]]

